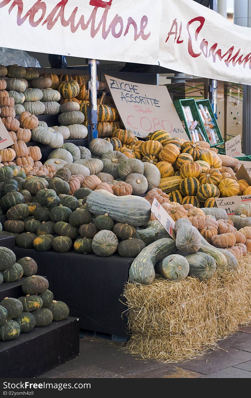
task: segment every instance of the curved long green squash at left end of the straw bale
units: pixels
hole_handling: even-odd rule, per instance
[[[157,261],[173,254],[175,250],[175,242],[170,238],[162,238],[148,245],[132,262],[130,281],[150,285],[155,278],[154,266]]]

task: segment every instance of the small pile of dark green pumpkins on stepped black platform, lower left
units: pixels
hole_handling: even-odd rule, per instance
[[[48,326],[53,320],[64,320],[69,315],[68,306],[54,300],[47,279],[36,273],[35,260],[23,257],[16,261],[12,250],[0,247],[0,284],[25,277],[22,284],[24,296],[18,299],[5,297],[0,302],[1,341],[16,339],[20,333]]]

